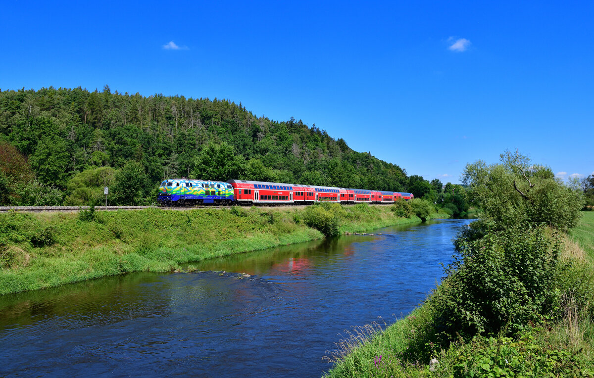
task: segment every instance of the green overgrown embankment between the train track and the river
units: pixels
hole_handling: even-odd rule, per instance
[[[326,223],[347,233],[421,221],[399,217],[386,205],[323,204],[319,210],[5,212],[0,214],[0,294],[127,272],[175,271],[203,259],[320,239],[326,230],[320,225]]]

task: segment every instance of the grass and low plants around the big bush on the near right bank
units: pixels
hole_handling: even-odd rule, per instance
[[[432,329],[431,303],[390,326],[373,324],[353,328],[350,338],[328,355],[334,362],[328,377],[466,377],[466,376],[594,376],[594,213],[582,212],[580,224],[563,242],[560,291],[567,287],[577,295],[561,294],[556,316],[526,325],[516,338],[475,336],[454,342],[449,348],[424,357],[424,338]],[[441,290],[441,287],[437,290]],[[580,293],[578,293],[581,291]],[[561,372],[561,375],[558,375]]]

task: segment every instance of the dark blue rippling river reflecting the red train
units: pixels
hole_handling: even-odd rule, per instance
[[[393,323],[469,220],[441,220],[0,297],[0,376],[320,377],[350,326]],[[225,271],[223,273],[222,271]],[[238,278],[238,273],[251,277]]]

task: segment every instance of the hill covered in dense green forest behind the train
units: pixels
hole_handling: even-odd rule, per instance
[[[0,143],[5,156],[19,160],[15,148],[26,160],[16,176],[4,170],[12,183],[36,177],[64,198],[118,173],[138,176],[135,197],[144,201],[164,177],[408,189],[405,170],[353,151],[315,124],[258,117],[241,102],[112,93],[108,85],[0,91]]]

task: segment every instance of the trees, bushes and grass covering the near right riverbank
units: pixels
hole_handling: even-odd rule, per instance
[[[594,217],[579,212],[583,193],[509,151],[500,164],[469,164],[465,183],[482,213],[457,237],[447,277],[385,331],[353,329],[327,356],[327,376],[594,376]]]

